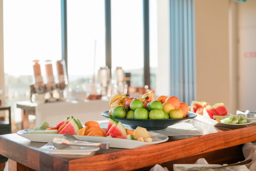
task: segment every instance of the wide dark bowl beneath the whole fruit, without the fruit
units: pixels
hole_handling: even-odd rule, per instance
[[[108,111],[102,112],[102,116],[109,118]],[[137,127],[143,127],[147,130],[161,130],[166,129],[170,125],[177,123],[182,123],[189,121],[192,118],[195,118],[197,115],[193,113],[188,113],[186,118],[180,119],[126,119],[126,118],[117,118],[117,121],[121,121],[123,124],[129,125],[132,129]]]

